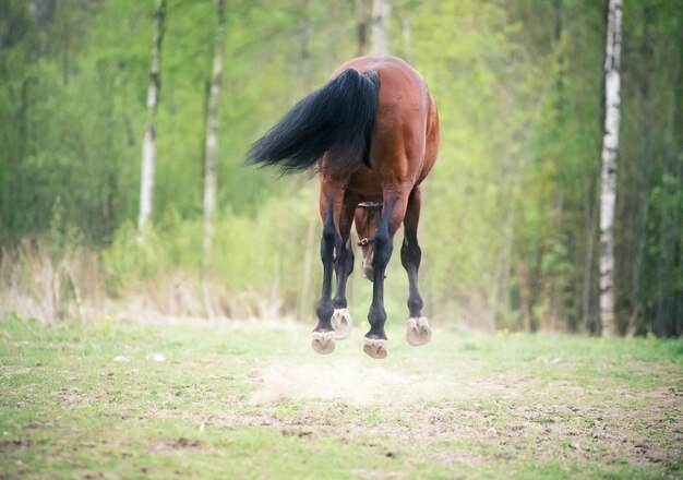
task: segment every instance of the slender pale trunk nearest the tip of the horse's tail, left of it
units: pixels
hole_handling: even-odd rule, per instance
[[[214,44],[214,65],[211,75],[206,108],[206,143],[204,148],[204,242],[202,245],[203,277],[208,265],[211,244],[214,237],[214,217],[216,212],[216,164],[218,157],[218,99],[223,75],[223,53],[225,49],[225,0],[216,0],[217,22]],[[208,316],[215,319],[211,298],[204,284],[204,302]]]

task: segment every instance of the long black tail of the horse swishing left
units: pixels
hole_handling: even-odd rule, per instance
[[[314,168],[329,152],[326,171],[352,171],[369,161],[379,89],[375,72],[345,70],[289,110],[251,146],[247,161],[291,173]]]

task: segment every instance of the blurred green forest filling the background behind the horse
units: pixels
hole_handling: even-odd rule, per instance
[[[370,3],[227,1],[203,259],[216,3],[166,2],[152,220],[139,232],[154,2],[0,0],[0,313],[312,322],[316,180],[242,158],[368,52]],[[390,51],[424,75],[441,117],[420,226],[436,325],[599,333],[606,4],[392,1]],[[626,0],[622,41],[616,328],[681,335],[683,1]],[[404,319],[396,255],[386,285],[390,320]],[[349,290],[362,316],[370,284],[357,273]]]

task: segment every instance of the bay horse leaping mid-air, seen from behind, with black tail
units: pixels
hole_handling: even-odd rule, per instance
[[[406,339],[414,346],[430,341],[418,288],[418,223],[420,185],[438,152],[436,104],[422,75],[396,57],[347,61],[249,149],[251,165],[273,166],[281,173],[317,170],[323,285],[311,339],[317,353],[332,353],[335,339],[348,338],[351,332],[346,283],[354,271],[352,224],[363,274],[373,286],[363,351],[375,359],[387,355],[384,277],[402,223],[400,260],[409,281]]]

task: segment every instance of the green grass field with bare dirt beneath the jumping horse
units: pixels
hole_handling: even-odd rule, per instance
[[[0,321],[0,478],[681,478],[683,341]]]

